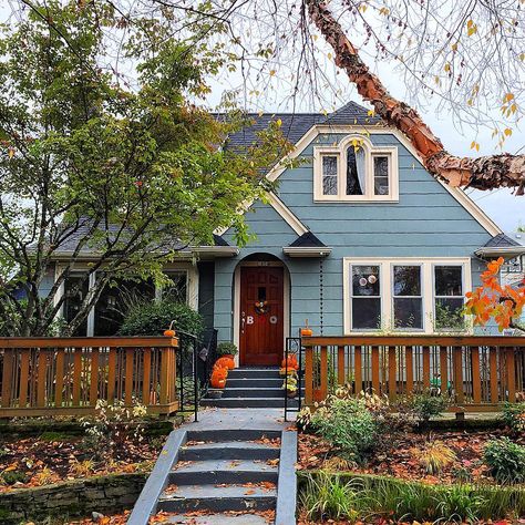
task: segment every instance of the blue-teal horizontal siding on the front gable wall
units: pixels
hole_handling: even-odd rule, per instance
[[[301,155],[298,167],[279,178],[279,198],[327,246],[331,255],[318,259],[290,259],[282,247],[297,235],[268,205],[257,203],[247,215],[257,240],[238,257],[217,260],[215,327],[219,339],[233,337],[233,278],[247,255],[264,251],[285,261],[291,281],[291,334],[308,319],[313,330],[340,334],[343,330],[343,257],[472,257],[473,286],[484,269],[473,253],[491,235],[437,183],[394,135],[371,135],[375,145],[398,146],[399,203],[313,203],[312,147],[333,144],[344,135],[322,135]],[[233,236],[225,235],[228,243]],[[321,282],[322,279],[322,302]]]

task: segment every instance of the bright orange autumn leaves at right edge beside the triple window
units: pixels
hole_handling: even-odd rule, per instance
[[[505,328],[519,328],[515,319],[519,319],[525,307],[525,279],[522,286],[513,288],[500,282],[500,269],[503,257],[487,264],[482,274],[483,286],[466,292],[466,313],[474,316],[474,325],[486,325],[494,318],[500,331]]]

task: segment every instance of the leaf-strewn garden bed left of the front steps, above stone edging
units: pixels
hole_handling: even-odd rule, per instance
[[[151,470],[163,445],[130,439],[112,456],[94,457],[81,436],[0,441],[0,492],[115,473]],[[20,477],[21,481],[16,481]]]

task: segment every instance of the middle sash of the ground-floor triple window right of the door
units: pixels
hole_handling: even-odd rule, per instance
[[[421,266],[393,267],[394,328],[423,329]]]

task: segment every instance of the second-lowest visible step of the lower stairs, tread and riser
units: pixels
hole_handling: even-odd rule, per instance
[[[277,483],[278,464],[260,460],[207,460],[177,463],[168,475],[175,485]]]

